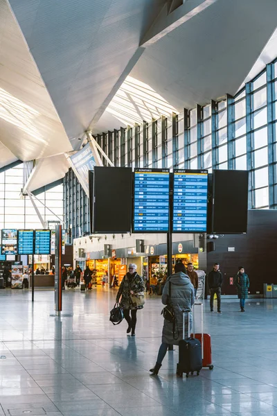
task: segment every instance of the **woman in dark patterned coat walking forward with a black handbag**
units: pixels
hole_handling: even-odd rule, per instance
[[[123,277],[116,295],[116,302],[120,301],[120,307],[123,308],[124,318],[128,323],[127,333],[132,331],[132,336],[135,336],[136,311],[143,309],[143,305],[134,306],[131,295],[144,295],[143,278],[136,272],[136,269],[136,264],[129,264],[128,272]],[[130,311],[131,318],[129,315]]]

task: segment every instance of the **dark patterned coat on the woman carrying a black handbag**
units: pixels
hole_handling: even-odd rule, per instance
[[[119,301],[120,296],[120,307],[123,309],[143,309],[143,306],[140,306],[139,308],[135,308],[132,304],[131,300],[131,293],[130,291],[133,291],[134,293],[143,295],[144,292],[144,284],[143,284],[143,278],[138,275],[138,273],[133,273],[130,275],[129,272],[127,272],[127,275],[125,275],[120,283],[118,293],[116,295],[116,302]]]

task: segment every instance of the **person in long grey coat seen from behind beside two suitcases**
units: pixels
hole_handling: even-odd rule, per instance
[[[169,284],[171,282],[171,297],[169,296]],[[190,309],[195,303],[195,290],[183,263],[175,264],[175,274],[168,277],[163,288],[161,302],[164,305],[172,304],[175,313],[175,329],[173,323],[163,320],[163,333],[161,337],[161,346],[157,356],[157,362],[150,372],[157,375],[161,368],[163,358],[166,356],[169,345],[179,345],[179,341],[183,339],[183,314],[184,309]],[[189,313],[190,328],[193,325],[192,314]],[[185,334],[188,333],[188,313],[185,316]]]

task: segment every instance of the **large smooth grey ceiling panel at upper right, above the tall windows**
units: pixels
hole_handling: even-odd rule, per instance
[[[149,46],[130,73],[181,110],[235,94],[276,28],[276,0],[218,0]]]

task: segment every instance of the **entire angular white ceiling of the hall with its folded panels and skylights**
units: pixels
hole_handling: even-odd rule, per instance
[[[43,186],[88,129],[235,94],[274,53],[276,14],[276,0],[0,0],[0,167],[40,160]]]

